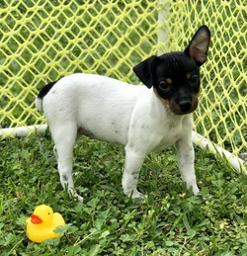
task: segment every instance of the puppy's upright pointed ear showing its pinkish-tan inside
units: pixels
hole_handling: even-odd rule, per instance
[[[199,28],[185,53],[195,59],[199,66],[206,62],[206,54],[210,43],[210,32],[206,25]]]

